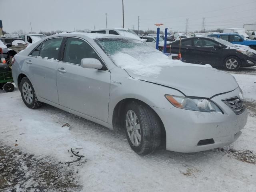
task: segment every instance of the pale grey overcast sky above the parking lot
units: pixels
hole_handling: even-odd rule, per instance
[[[180,2],[180,3],[179,3]],[[33,32],[122,26],[122,0],[0,0],[3,30]],[[124,0],[124,27],[155,30],[163,23],[172,31],[201,30],[205,17],[206,30],[243,27],[256,23],[255,0]]]

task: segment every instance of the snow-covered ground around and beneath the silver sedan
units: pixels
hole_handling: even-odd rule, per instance
[[[256,70],[254,73],[233,75],[244,91],[245,99],[251,104],[243,134],[223,149],[190,154],[159,150],[154,154],[138,156],[130,149],[123,131],[108,130],[49,105],[31,110],[22,102],[17,88],[12,93],[0,90],[0,146],[3,150],[0,150],[0,191],[11,191],[12,188],[17,191],[44,191],[43,185],[45,191],[50,191],[47,187],[57,191],[55,180],[61,185],[63,178],[71,176],[78,181],[77,186],[82,186],[82,191],[86,192],[255,192],[256,116],[253,114],[256,110]],[[66,123],[70,126],[63,126]],[[65,162],[78,158],[72,154],[71,148],[74,154],[84,157],[68,166]],[[29,178],[25,174],[29,182],[1,180],[7,178],[3,172],[4,166],[7,166],[6,156],[11,157],[10,153],[14,150],[18,151],[13,155],[17,161],[27,160],[22,158],[21,153],[32,155],[35,159],[33,171],[28,164],[21,163],[19,166],[23,172],[29,170],[34,176]],[[40,174],[36,176],[36,163],[54,165],[51,169],[54,169],[55,180],[44,182],[44,177]],[[42,167],[38,166],[40,169]],[[67,173],[63,175],[63,171]],[[81,190],[77,186],[72,187],[72,181],[67,182],[70,191]],[[68,191],[67,187],[63,191]]]

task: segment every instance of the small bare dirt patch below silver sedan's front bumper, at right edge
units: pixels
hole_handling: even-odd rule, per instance
[[[231,156],[234,156],[237,160],[246,162],[246,163],[251,163],[251,164],[256,164],[256,154],[254,154],[250,150],[235,150],[234,148],[216,148],[214,149],[215,151],[222,151],[225,152]]]

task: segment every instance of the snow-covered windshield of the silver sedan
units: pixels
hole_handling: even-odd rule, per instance
[[[144,42],[123,38],[99,38],[94,40],[108,57],[121,68],[136,75],[157,75],[172,60]]]

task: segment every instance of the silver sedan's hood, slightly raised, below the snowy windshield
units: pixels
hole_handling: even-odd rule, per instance
[[[158,75],[143,76],[126,70],[132,78],[168,86],[185,96],[211,98],[216,94],[230,92],[238,87],[234,77],[210,65],[177,64],[162,67]],[[168,93],[166,93],[168,94]]]

